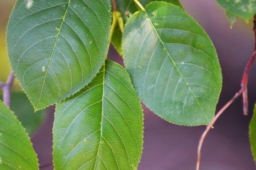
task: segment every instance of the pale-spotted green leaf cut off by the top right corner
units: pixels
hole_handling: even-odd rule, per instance
[[[227,11],[235,15],[249,20],[256,14],[256,1],[255,0],[217,0],[218,3]]]

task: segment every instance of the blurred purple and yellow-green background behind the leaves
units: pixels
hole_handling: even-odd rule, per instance
[[[239,20],[233,29],[230,29],[224,9],[218,6],[215,0],[180,1],[187,13],[205,29],[217,49],[223,74],[223,89],[218,110],[240,88],[244,67],[253,52],[252,20],[249,23]],[[5,36],[9,14],[14,4],[15,0],[0,0],[0,81],[6,81],[10,72]],[[122,64],[122,58],[112,46],[108,57]],[[256,102],[256,63],[250,71],[248,86],[249,116],[243,116],[241,98],[225,111],[204,142],[201,170],[256,169],[248,135],[248,125]],[[29,131],[39,163],[47,164],[52,161],[54,108],[50,107],[35,114],[17,81],[13,89],[12,109]],[[138,170],[195,170],[198,140],[205,127],[173,125],[145,107],[144,114],[144,146]],[[27,121],[31,116],[34,121]],[[53,170],[53,167],[48,166],[42,170]]]

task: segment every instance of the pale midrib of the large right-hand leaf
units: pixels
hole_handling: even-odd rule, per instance
[[[169,56],[169,58],[171,59],[173,65],[174,65],[174,67],[176,68],[176,70],[177,70],[178,73],[180,74],[180,77],[183,79],[183,81],[185,82],[187,88],[188,88],[189,91],[192,93],[192,95],[193,95],[193,97],[195,98],[196,102],[198,103],[198,105],[199,105],[201,111],[203,111],[204,116],[206,117],[207,121],[210,122],[209,119],[208,119],[208,117],[206,116],[206,113],[204,112],[204,110],[203,110],[201,104],[199,103],[197,97],[195,96],[195,94],[194,94],[194,92],[192,91],[192,89],[189,87],[188,82],[187,82],[186,79],[183,77],[183,74],[181,74],[179,68],[177,67],[177,65],[176,65],[176,63],[175,63],[175,61],[172,59],[172,56],[169,54],[169,51],[167,50],[167,48],[166,48],[164,42],[162,41],[162,39],[160,38],[159,34],[157,33],[157,30],[156,30],[156,28],[154,27],[154,24],[152,23],[151,18],[148,16],[147,11],[145,10],[144,12],[145,12],[145,14],[146,14],[146,17],[148,18],[149,23],[151,24],[152,28],[154,29],[154,32],[156,33],[158,39],[160,40],[161,44],[163,45],[164,50],[166,51],[167,55]]]

